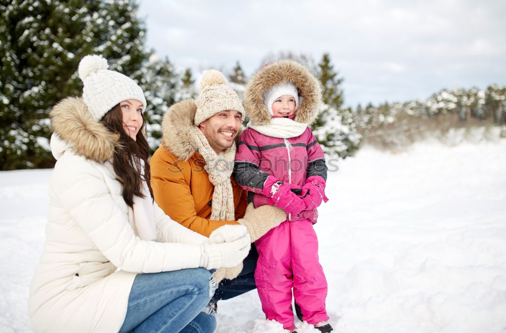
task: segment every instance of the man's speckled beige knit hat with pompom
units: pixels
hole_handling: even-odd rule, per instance
[[[204,73],[200,81],[200,95],[195,99],[197,112],[194,123],[198,126],[202,121],[224,110],[235,110],[241,113],[244,120],[244,107],[237,93],[227,86],[227,79],[216,69]]]

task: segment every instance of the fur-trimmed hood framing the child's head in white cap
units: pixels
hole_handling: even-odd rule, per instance
[[[244,106],[253,124],[264,125],[270,121],[271,115],[262,95],[272,86],[284,82],[292,82],[302,97],[293,120],[311,123],[316,119],[321,101],[320,82],[297,61],[281,60],[260,68],[246,85]]]

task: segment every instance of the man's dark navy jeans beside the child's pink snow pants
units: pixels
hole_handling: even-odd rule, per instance
[[[255,243],[251,243],[248,255],[242,261],[242,271],[233,280],[223,280],[218,285],[213,301],[228,300],[257,288],[255,283],[255,268],[257,267],[258,252]]]

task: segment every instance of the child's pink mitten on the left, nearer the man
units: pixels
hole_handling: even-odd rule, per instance
[[[289,183],[283,183],[273,176],[267,178],[262,194],[271,198],[270,204],[279,207],[289,214],[299,214],[306,210],[306,203],[295,193],[291,191],[292,188],[299,188],[292,186]]]

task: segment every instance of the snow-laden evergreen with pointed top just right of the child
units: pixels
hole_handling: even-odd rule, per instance
[[[352,110],[343,108],[343,79],[334,71],[328,54],[318,64],[318,78],[323,88],[323,104],[311,129],[324,153],[345,158],[358,149],[362,136],[357,133]]]

